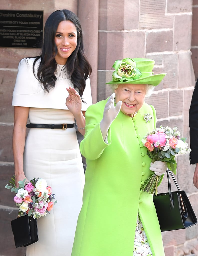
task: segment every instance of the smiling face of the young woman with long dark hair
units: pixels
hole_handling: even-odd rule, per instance
[[[75,25],[69,20],[61,21],[56,30],[54,42],[58,50],[55,60],[58,64],[65,65],[67,58],[76,49],[77,30]]]

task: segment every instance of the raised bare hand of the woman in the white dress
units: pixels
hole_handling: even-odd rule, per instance
[[[75,117],[76,115],[81,114],[82,100],[81,100],[79,93],[74,88],[69,86],[69,88],[66,88],[66,89],[67,89],[69,95],[66,99],[65,104],[66,104],[68,110]]]

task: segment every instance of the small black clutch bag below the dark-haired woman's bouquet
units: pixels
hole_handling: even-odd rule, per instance
[[[37,219],[32,216],[22,216],[11,221],[15,246],[26,247],[39,240],[37,231]]]

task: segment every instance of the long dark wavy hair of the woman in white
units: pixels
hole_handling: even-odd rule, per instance
[[[57,80],[55,76],[55,72],[57,70],[57,64],[55,61],[57,47],[54,39],[59,23],[64,20],[71,21],[77,30],[77,46],[68,57],[64,69],[67,70],[69,79],[71,80],[74,88],[79,90],[79,94],[82,97],[86,85],[86,79],[91,74],[91,66],[85,56],[80,21],[70,10],[56,10],[46,20],[42,52],[41,55],[36,56],[36,59],[34,60],[33,73],[40,83],[43,84],[45,91],[49,92],[49,90],[55,86],[55,82]],[[41,59],[41,61],[37,71],[35,71],[34,67],[39,59]]]

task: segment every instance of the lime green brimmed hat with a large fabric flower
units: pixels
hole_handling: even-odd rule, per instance
[[[106,84],[152,84],[158,85],[166,76],[166,73],[153,75],[155,61],[146,58],[125,58],[116,60],[113,64],[112,80]]]

